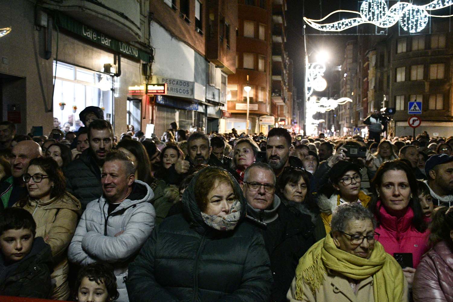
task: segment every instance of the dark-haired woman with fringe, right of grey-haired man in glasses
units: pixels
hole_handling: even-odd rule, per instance
[[[326,236],[326,229],[320,216],[319,207],[308,192],[310,187],[309,179],[310,175],[306,170],[296,167],[285,167],[277,181],[276,193],[285,206],[290,209],[294,208],[311,217],[311,221],[315,225],[315,239],[318,241]]]

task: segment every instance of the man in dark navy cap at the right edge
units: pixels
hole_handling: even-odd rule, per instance
[[[425,163],[428,180],[424,181],[433,197],[434,206],[453,205],[453,156],[435,154]]]

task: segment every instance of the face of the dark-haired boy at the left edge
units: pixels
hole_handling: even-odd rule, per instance
[[[6,230],[0,235],[0,251],[6,262],[17,262],[28,255],[33,246],[33,233],[29,229]]]

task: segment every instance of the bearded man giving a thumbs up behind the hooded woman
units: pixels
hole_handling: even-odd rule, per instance
[[[202,132],[194,132],[187,139],[188,155],[185,159],[178,158],[178,161],[167,169],[163,175],[164,181],[170,185],[179,185],[188,175],[198,171],[203,166],[222,167],[222,162],[212,154],[212,147],[209,139]]]

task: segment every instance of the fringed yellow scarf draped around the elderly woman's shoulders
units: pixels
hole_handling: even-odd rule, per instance
[[[400,302],[404,276],[400,265],[376,241],[370,259],[357,257],[338,249],[330,234],[315,243],[299,260],[296,268],[295,297],[303,301],[303,284],[313,294],[323,284],[327,268],[347,278],[363,280],[373,277],[373,294],[376,302]]]

